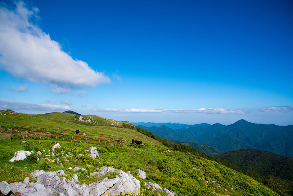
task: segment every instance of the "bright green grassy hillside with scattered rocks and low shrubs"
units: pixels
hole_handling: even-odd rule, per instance
[[[134,138],[143,141],[144,147],[100,147],[98,151],[101,159],[100,163],[98,163],[89,158],[88,154],[85,153],[88,146],[80,143],[78,146],[76,146],[77,144],[72,144],[71,146],[62,145],[62,149],[59,151],[70,151],[73,154],[73,158],[67,158],[70,162],[63,162],[64,167],[61,167],[60,164],[43,159],[40,159],[37,163],[34,163],[33,159],[10,163],[9,159],[13,157],[13,153],[17,150],[34,150],[36,152],[41,149],[48,150],[51,146],[32,143],[22,144],[19,140],[9,141],[7,138],[1,138],[0,181],[5,180],[8,183],[22,181],[30,172],[36,169],[43,169],[45,171],[64,170],[68,177],[70,177],[73,175],[73,172],[67,168],[79,166],[88,170],[86,172],[77,172],[81,183],[92,183],[97,179],[87,177],[89,172],[98,171],[100,167],[106,165],[122,169],[125,172],[136,169],[146,171],[147,179],[142,180],[139,178],[142,195],[157,195],[156,192],[151,192],[143,186],[145,181],[157,183],[163,188],[171,189],[177,195],[276,195],[275,192],[246,175],[190,153],[170,151],[159,141],[147,137],[136,130],[113,126],[86,126],[78,124],[79,122],[72,122],[75,115],[66,113],[54,112],[35,116],[27,114],[4,115],[4,113],[1,111],[0,122],[3,122],[2,127],[5,126],[5,128],[13,127],[15,123],[15,126],[24,124],[32,126],[34,124],[34,126],[59,127],[60,129],[72,131],[79,129],[83,132],[121,136],[125,137],[127,141]],[[11,115],[13,118],[11,118]],[[77,148],[71,151],[74,147]],[[84,154],[84,156],[75,158],[79,153]],[[44,154],[42,156],[45,157]],[[62,162],[61,156],[58,158]],[[93,165],[93,167],[86,167],[86,163]],[[197,168],[197,170],[193,168]],[[219,185],[221,186],[220,188]],[[215,187],[215,189],[211,189],[211,187]]]

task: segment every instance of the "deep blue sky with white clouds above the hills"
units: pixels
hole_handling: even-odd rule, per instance
[[[0,6],[0,109],[293,124],[292,1]]]

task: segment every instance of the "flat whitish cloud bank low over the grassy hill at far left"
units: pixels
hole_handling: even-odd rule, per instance
[[[53,104],[32,104],[11,101],[0,101],[0,109],[12,110],[71,110],[69,106],[53,105]]]

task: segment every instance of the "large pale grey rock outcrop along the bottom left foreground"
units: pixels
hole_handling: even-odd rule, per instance
[[[66,179],[66,174],[63,170],[45,172],[43,170],[35,170],[29,176],[35,179],[35,183],[29,183],[29,178],[25,178],[24,183],[11,183],[5,181],[0,183],[0,191],[3,195],[8,195],[10,192],[15,194],[20,192],[24,195],[65,195],[65,196],[92,196],[92,195],[115,195],[120,194],[139,194],[139,180],[134,178],[130,172],[125,173],[122,170],[117,170],[111,167],[103,166],[100,175],[110,172],[117,172],[113,179],[104,178],[96,183],[79,184],[78,176],[73,175],[72,178]]]

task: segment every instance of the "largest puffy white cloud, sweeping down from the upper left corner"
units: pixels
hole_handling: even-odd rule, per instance
[[[0,8],[0,65],[14,77],[45,82],[59,87],[95,86],[109,83],[102,72],[62,51],[49,34],[32,21],[38,20],[38,8],[28,9],[19,1],[16,8]]]

